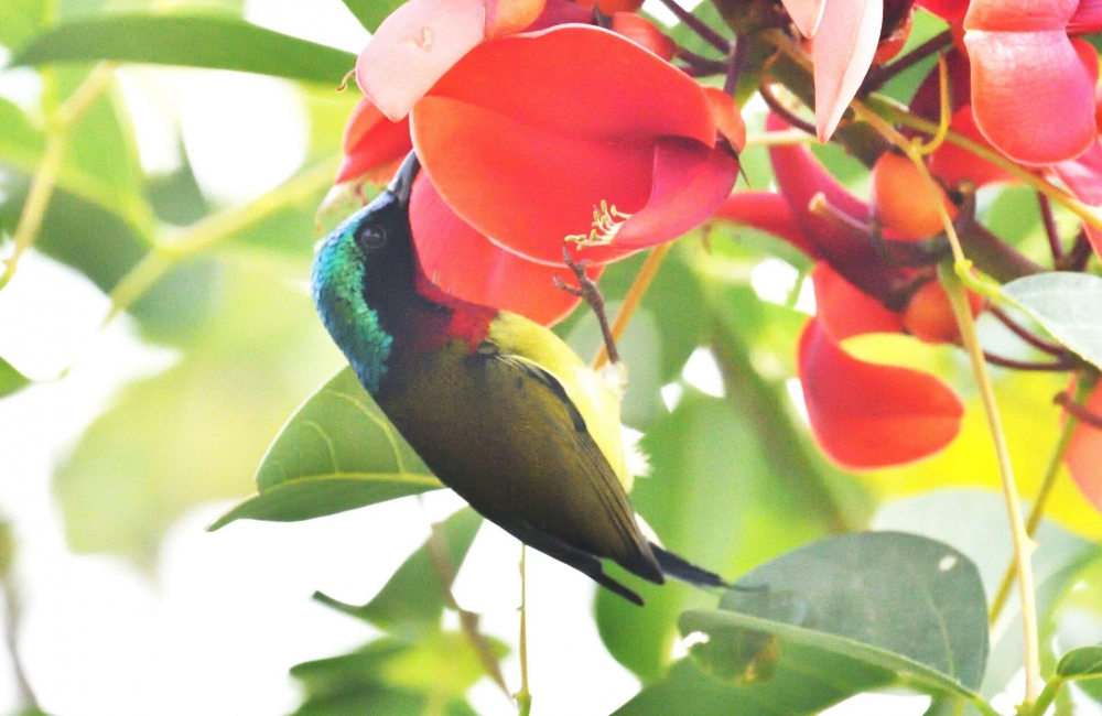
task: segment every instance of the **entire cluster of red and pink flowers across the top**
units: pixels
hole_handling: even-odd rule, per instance
[[[784,4],[811,41],[815,130],[825,140],[845,121],[869,67],[898,52],[911,2]],[[953,29],[954,47],[944,53],[950,129],[1006,160],[941,143],[928,158],[944,189],[941,206],[932,195],[916,202],[929,193],[901,155],[876,162],[866,203],[796,145],[769,150],[777,192],[732,195],[745,128],[731,93],[692,76],[693,62],[698,69],[720,63],[678,47],[635,14],[638,0],[409,0],[357,65],[367,97],[349,122],[337,178],[381,178],[414,148],[424,171],[410,217],[426,275],[455,295],[545,324],[577,302],[554,288],[564,246],[588,259],[595,276],[710,217],[770,231],[817,262],[817,315],[798,347],[817,441],[847,467],[915,460],[955,437],[960,400],[933,376],[866,362],[845,348],[869,333],[960,343],[936,278],[939,257],[899,256],[928,251],[961,197],[1014,181],[1022,174],[1014,165],[1102,204],[1099,58],[1078,39],[1102,29],[1102,0],[918,4]],[[712,44],[724,50],[722,41]],[[731,57],[728,90],[741,68],[739,55]],[[938,120],[946,109],[934,70],[909,110]],[[770,115],[768,131],[787,127]],[[1102,251],[1102,232],[1084,228]],[[972,299],[979,313],[983,303]],[[1102,410],[1102,393],[1087,405],[1094,408]],[[1067,460],[1102,507],[1102,484],[1085,476],[1095,455],[1102,458],[1102,432],[1079,428]]]

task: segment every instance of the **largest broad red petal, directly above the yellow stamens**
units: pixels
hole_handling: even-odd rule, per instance
[[[583,25],[484,43],[418,104],[412,128],[425,172],[456,214],[510,250],[555,265],[563,239],[587,235],[601,202],[634,214],[652,191],[677,195],[666,177],[652,177],[656,162],[666,162],[658,155],[665,150],[656,154],[659,138],[712,147],[716,131],[707,98],[688,75]],[[693,182],[714,163],[685,163],[677,151],[672,158],[691,170],[681,178]],[[653,243],[677,235],[639,236]],[[619,256],[615,247],[586,249],[596,262]]]

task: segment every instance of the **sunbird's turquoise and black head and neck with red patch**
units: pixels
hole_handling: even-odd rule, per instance
[[[333,231],[314,259],[313,290],[322,321],[371,394],[383,388],[397,355],[455,339],[475,349],[494,308],[441,291],[421,270],[409,230],[369,252],[356,243],[357,213]]]

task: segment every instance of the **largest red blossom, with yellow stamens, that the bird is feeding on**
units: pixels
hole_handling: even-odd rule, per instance
[[[544,17],[564,14],[555,1]],[[386,93],[354,120],[370,117],[380,142],[404,123],[378,118]],[[694,228],[731,193],[745,137],[728,96],[582,24],[476,43],[409,117],[424,170],[410,216],[425,273],[454,295],[541,323],[576,305],[553,282],[569,273],[564,246],[596,275]],[[386,153],[370,142],[354,148],[354,134],[346,166],[357,153]]]

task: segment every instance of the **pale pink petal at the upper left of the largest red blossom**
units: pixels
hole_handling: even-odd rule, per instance
[[[391,121],[483,41],[482,0],[409,0],[382,21],[356,62],[356,82]]]

